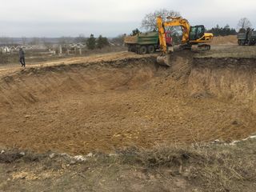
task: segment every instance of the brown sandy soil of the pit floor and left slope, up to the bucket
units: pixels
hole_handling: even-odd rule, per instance
[[[193,57],[176,54],[172,68],[122,52],[2,69],[0,145],[86,154],[254,133],[248,107],[191,97]]]

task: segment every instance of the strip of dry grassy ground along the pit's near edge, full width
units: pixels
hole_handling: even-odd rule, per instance
[[[256,180],[255,146],[254,139],[237,146],[134,147],[112,155],[94,153],[86,162],[72,165],[59,154],[49,158],[50,153],[26,152],[21,157],[18,150],[7,150],[0,154],[0,170],[4,170],[0,190],[45,191],[52,183],[46,191],[75,187],[78,191],[251,192]],[[16,177],[23,174],[26,178]]]

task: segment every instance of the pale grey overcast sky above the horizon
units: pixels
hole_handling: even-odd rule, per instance
[[[141,26],[145,14],[175,10],[191,25],[236,28],[246,17],[256,27],[256,0],[0,0],[0,36],[114,37]]]

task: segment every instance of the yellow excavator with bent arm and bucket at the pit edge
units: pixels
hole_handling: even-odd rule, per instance
[[[205,26],[190,26],[190,23],[182,17],[168,17],[166,22],[163,22],[162,17],[157,18],[158,35],[161,56],[158,56],[158,62],[166,66],[170,66],[170,55],[174,52],[174,46],[166,44],[166,28],[170,26],[182,27],[182,45],[181,49],[191,50],[192,46],[197,45],[199,49],[210,50],[210,45],[214,34],[205,33]]]

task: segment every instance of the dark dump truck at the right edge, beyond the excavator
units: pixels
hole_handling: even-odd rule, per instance
[[[256,44],[256,31],[246,30],[245,33],[238,34],[239,46],[254,46]]]

